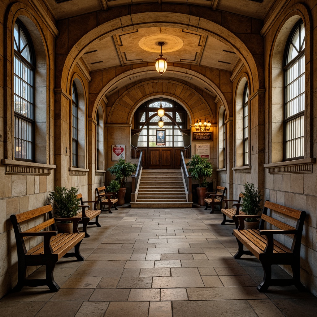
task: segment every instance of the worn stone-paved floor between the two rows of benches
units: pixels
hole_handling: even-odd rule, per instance
[[[316,316],[317,299],[294,287],[259,293],[261,264],[234,260],[232,225],[203,207],[130,209],[100,215],[81,244],[84,262],[61,259],[61,289],[27,288],[0,300],[0,316]],[[274,277],[287,275],[275,266]],[[43,268],[30,278],[41,278]]]

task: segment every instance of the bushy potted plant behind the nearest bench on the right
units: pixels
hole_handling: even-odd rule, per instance
[[[246,215],[259,215],[262,211],[261,202],[262,195],[254,184],[247,182],[244,184],[244,192],[241,209]],[[257,218],[245,218],[244,229],[257,229],[259,228],[260,221]]]

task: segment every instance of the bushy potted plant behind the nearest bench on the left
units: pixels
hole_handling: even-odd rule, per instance
[[[65,187],[56,186],[55,191],[50,192],[49,200],[53,201],[56,218],[72,218],[77,215],[78,210],[81,209],[77,191],[76,187],[66,189]],[[59,232],[73,232],[72,221],[60,221],[56,224]]]

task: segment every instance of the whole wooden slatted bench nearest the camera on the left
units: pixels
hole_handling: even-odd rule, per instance
[[[57,292],[60,287],[54,281],[53,276],[56,262],[62,257],[71,256],[75,256],[78,261],[84,261],[79,250],[81,241],[85,236],[84,233],[78,231],[78,222],[81,221],[81,218],[58,218],[62,221],[73,221],[73,233],[57,232],[51,205],[11,215],[10,219],[16,237],[18,255],[18,281],[13,290],[20,291],[23,286],[47,285],[52,292]],[[41,220],[42,223],[25,230],[24,227],[32,219],[36,220],[36,223]],[[41,231],[50,227],[52,231]],[[44,241],[27,250],[26,245],[28,244],[25,241],[32,236],[42,236]],[[72,248],[74,248],[74,252],[68,252]],[[26,279],[27,267],[37,265],[46,266],[46,279]]]

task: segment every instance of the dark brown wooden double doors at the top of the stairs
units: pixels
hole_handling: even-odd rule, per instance
[[[143,147],[143,168],[180,168],[180,150],[183,147]]]

